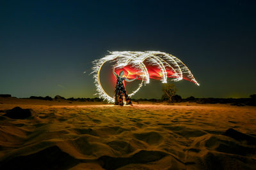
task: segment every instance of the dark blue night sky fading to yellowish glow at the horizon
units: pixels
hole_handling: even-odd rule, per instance
[[[174,82],[180,96],[249,97],[255,8],[253,0],[0,1],[0,94],[97,97],[93,60],[108,50],[157,50],[182,60],[200,83]],[[153,80],[133,98],[161,94]]]

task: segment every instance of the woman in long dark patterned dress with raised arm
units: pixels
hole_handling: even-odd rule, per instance
[[[126,104],[131,104],[131,106],[133,106],[130,97],[127,95],[123,81],[125,80],[128,82],[131,82],[131,81],[136,80],[138,78],[138,76],[134,79],[129,80],[129,79],[123,77],[124,70],[120,71],[119,75],[116,74],[115,67],[113,67],[113,74],[116,76],[115,105],[124,106],[123,97],[125,97]]]

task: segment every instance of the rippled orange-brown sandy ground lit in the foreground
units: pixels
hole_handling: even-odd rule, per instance
[[[15,106],[34,115],[0,113],[0,169],[256,169],[256,107],[0,97]]]

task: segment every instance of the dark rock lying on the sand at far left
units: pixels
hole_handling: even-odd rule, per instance
[[[33,110],[31,109],[22,109],[20,107],[15,107],[12,110],[6,110],[6,113],[3,115],[9,118],[24,119],[33,116]]]

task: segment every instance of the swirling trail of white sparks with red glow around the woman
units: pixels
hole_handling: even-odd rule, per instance
[[[97,95],[100,98],[107,100],[109,103],[115,102],[114,97],[110,97],[102,88],[100,83],[100,69],[106,62],[115,62],[115,71],[118,73],[124,70],[126,78],[135,78],[139,76],[141,80],[138,89],[134,90],[128,96],[133,96],[140,90],[142,85],[150,83],[150,78],[160,80],[162,83],[167,83],[167,78],[172,78],[173,81],[188,80],[199,86],[188,67],[177,57],[156,51],[146,52],[109,52],[102,59],[94,60],[92,73],[94,83],[97,90]]]

